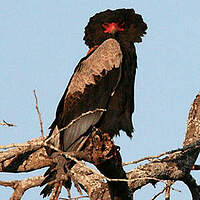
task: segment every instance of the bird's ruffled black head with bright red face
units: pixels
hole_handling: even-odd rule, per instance
[[[106,10],[90,18],[85,27],[84,40],[89,48],[100,45],[108,38],[119,42],[141,42],[147,25],[133,9]]]

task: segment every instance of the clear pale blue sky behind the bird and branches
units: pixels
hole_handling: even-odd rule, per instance
[[[134,8],[148,24],[143,43],[136,44],[135,133],[132,140],[122,133],[116,143],[124,161],[181,147],[200,85],[198,0],[0,0],[0,5],[0,121],[17,124],[0,127],[1,144],[40,136],[34,89],[48,134],[73,69],[88,51],[82,40],[88,19],[108,8]],[[1,174],[0,180],[41,173]],[[149,200],[162,187],[146,186],[135,199]],[[183,184],[174,187],[182,192],[173,191],[172,199],[191,198]],[[23,199],[42,199],[39,191],[31,189]],[[0,187],[0,198],[8,199],[11,192]]]

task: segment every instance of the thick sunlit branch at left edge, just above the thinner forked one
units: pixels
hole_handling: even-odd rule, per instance
[[[0,153],[1,172],[28,172],[51,164],[46,150],[42,147],[42,138],[32,139],[15,148]]]

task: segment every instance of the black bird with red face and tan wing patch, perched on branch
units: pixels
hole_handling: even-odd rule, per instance
[[[63,151],[80,150],[92,128],[111,137],[123,130],[132,137],[135,42],[147,25],[133,9],[106,10],[90,18],[80,60],[57,108],[50,136],[63,129],[54,145]]]

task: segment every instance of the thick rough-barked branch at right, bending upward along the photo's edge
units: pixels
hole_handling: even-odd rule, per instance
[[[182,151],[172,153],[161,160],[155,160],[148,164],[141,165],[128,173],[129,179],[138,177],[154,177],[163,180],[183,180],[188,182],[188,176],[194,165],[200,150],[200,95],[194,100],[188,117],[186,138]],[[186,180],[185,180],[186,178]],[[131,191],[152,183],[149,179],[130,182]],[[188,185],[188,184],[187,184]],[[189,187],[191,193],[193,190]],[[196,187],[194,187],[196,191]],[[196,193],[195,193],[196,194]]]

